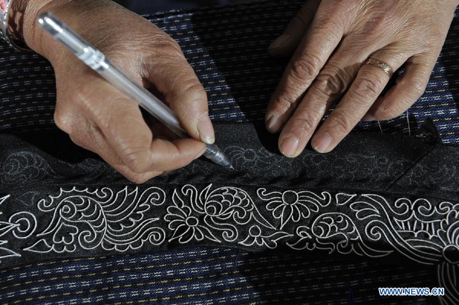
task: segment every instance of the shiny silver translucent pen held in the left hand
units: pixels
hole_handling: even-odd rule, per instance
[[[43,13],[38,16],[39,26],[52,35],[56,40],[65,45],[75,56],[86,65],[99,73],[101,77],[110,82],[115,88],[135,100],[140,107],[162,122],[171,131],[181,138],[189,138],[172,109],[167,107],[159,98],[148,90],[133,82],[120,68],[113,65],[104,54],[81,38],[77,33],[69,29],[51,13]],[[228,169],[233,166],[228,158],[215,144],[206,144],[204,156],[218,165]]]

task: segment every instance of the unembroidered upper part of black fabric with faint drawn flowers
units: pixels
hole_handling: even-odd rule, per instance
[[[278,153],[276,135],[263,126],[217,123],[216,144],[233,162],[227,171],[206,158],[146,185],[221,183],[327,191],[359,191],[457,200],[459,151],[440,144],[426,124],[416,136],[354,133],[329,154],[309,147],[297,158]],[[2,135],[4,189],[24,184],[104,185],[130,182],[59,131]]]

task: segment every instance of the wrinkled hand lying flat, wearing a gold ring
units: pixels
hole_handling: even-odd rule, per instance
[[[309,0],[269,47],[293,57],[266,112],[287,157],[312,147],[327,153],[361,120],[387,120],[424,92],[446,38],[457,0]],[[375,58],[393,71],[396,85],[379,96],[390,77],[363,64]],[[317,128],[325,112],[341,101]],[[313,135],[314,134],[314,135]]]

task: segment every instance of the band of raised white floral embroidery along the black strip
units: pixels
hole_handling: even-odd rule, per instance
[[[8,197],[0,198],[0,204]],[[444,282],[455,276],[456,269],[447,266],[459,267],[459,204],[446,201],[433,205],[423,198],[389,201],[377,194],[332,196],[211,184],[201,190],[193,185],[174,188],[170,197],[159,187],[73,187],[39,200],[37,208],[44,227],[39,233],[33,213],[14,213],[7,221],[0,213],[0,237],[5,239],[0,240],[0,259],[26,252],[71,255],[79,250],[90,255],[91,250],[165,248],[169,242],[370,258],[399,253],[422,264],[440,264]],[[27,246],[8,248],[8,238]],[[448,289],[450,298],[456,298],[454,289]]]

